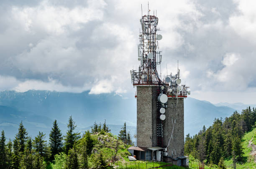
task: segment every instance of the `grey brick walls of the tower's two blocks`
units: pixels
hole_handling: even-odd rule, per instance
[[[137,146],[157,146],[157,97],[158,86],[137,86]],[[184,155],[184,100],[168,98],[166,119],[163,124],[163,146],[173,158]],[[174,124],[174,121],[176,123]],[[173,128],[174,127],[174,128]]]

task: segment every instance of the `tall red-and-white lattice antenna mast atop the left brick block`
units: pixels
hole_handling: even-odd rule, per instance
[[[141,4],[142,12],[142,4]],[[138,44],[138,61],[141,62],[139,70],[131,70],[131,81],[134,86],[138,84],[159,85],[163,84],[161,77],[157,73],[156,66],[161,63],[161,51],[159,51],[159,40],[162,35],[157,34],[158,18],[155,15],[142,15],[141,31],[139,34],[140,43]]]

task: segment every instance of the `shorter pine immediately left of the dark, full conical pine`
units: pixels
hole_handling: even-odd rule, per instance
[[[42,157],[48,156],[48,149],[45,139],[45,134],[39,131],[39,134],[33,140],[33,147]]]

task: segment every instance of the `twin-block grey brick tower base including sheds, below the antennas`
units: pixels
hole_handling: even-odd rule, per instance
[[[128,151],[139,160],[187,166],[188,159],[184,156],[184,98],[168,97],[159,140],[159,93],[160,86],[137,86],[137,145]]]

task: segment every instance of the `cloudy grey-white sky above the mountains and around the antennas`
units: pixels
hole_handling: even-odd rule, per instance
[[[135,91],[141,4],[120,0],[1,0],[0,91]],[[191,97],[256,103],[256,1],[149,1],[163,39],[161,74]]]

